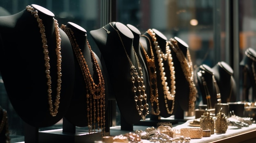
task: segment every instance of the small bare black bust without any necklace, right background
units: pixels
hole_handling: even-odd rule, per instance
[[[235,102],[237,93],[233,69],[226,62],[222,61],[213,66],[212,70],[220,88],[221,102]]]

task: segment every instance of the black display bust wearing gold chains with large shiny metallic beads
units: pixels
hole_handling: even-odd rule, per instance
[[[116,30],[119,31],[119,34]],[[115,95],[121,117],[130,125],[138,123],[141,120],[141,116],[136,109],[135,93],[132,91],[133,85],[130,75],[130,62],[137,68],[135,53],[132,49],[133,33],[126,25],[120,22],[110,22],[101,29],[90,31],[90,34],[99,47],[105,61],[112,86],[112,89],[110,89],[111,93],[109,94]],[[121,40],[124,45],[121,43]],[[138,58],[140,57],[138,56]],[[147,80],[145,76],[146,74],[143,75],[144,81]],[[145,102],[142,103],[142,105],[144,104]],[[145,110],[143,114],[145,114]]]

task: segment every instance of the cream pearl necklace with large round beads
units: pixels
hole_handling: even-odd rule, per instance
[[[162,49],[158,45],[157,38],[155,37],[155,32],[152,29],[148,29],[147,33],[152,38],[153,44],[155,46],[155,53],[157,54],[157,58],[158,58],[158,65],[159,65],[160,75],[161,75],[161,79],[162,79],[162,86],[163,86],[163,90],[164,90],[164,102],[165,102],[166,111],[168,112],[168,114],[172,114],[173,109],[174,109],[176,86],[175,86],[175,70],[174,70],[174,66],[173,66],[173,57],[171,55],[171,49],[168,46],[168,42],[166,42],[166,47],[165,47],[166,53],[164,54]],[[171,74],[171,77],[170,77],[171,78],[171,89],[168,86],[168,82],[166,82],[167,77],[166,77],[166,73],[164,72],[163,60],[168,61],[168,66],[169,66],[169,70],[170,70],[170,74]],[[168,100],[172,101],[171,110],[168,107],[168,103],[167,103]]]

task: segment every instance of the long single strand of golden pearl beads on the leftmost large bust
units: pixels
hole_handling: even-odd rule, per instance
[[[26,7],[26,10],[28,12],[31,13],[31,15],[34,15],[34,18],[36,18],[36,21],[38,22],[38,27],[40,28],[40,33],[41,33],[41,38],[42,38],[42,43],[43,43],[43,53],[45,56],[45,73],[46,73],[46,77],[47,77],[47,92],[48,92],[48,103],[49,103],[49,111],[50,114],[55,117],[58,113],[58,107],[59,107],[59,103],[60,103],[60,94],[61,94],[61,62],[62,62],[62,57],[61,57],[61,35],[60,35],[60,31],[59,31],[59,27],[58,27],[58,21],[56,19],[54,19],[54,26],[55,26],[55,34],[56,34],[56,55],[57,55],[57,88],[56,88],[56,97],[55,97],[55,103],[54,106],[55,108],[53,108],[53,104],[52,104],[52,77],[50,75],[50,57],[49,57],[49,51],[48,51],[48,45],[47,45],[47,39],[46,39],[46,35],[45,35],[45,26],[43,24],[43,20],[41,20],[39,18],[38,15],[38,11],[34,10],[33,7],[31,7],[30,5],[28,5]]]

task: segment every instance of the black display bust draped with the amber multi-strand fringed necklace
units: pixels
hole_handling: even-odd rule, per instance
[[[79,48],[81,49],[81,52],[85,58],[86,64],[88,65],[90,74],[92,75],[92,78],[94,79],[95,84],[99,83],[98,75],[94,69],[94,65],[92,62],[92,56],[90,48],[87,44],[87,31],[83,29],[83,27],[79,26],[78,24],[75,24],[73,22],[67,22],[66,24],[67,28],[70,28],[74,32],[74,37],[76,39],[76,43],[78,44]],[[89,42],[90,44],[90,42]],[[103,66],[101,65],[99,57],[93,52],[94,57],[97,60],[97,63],[99,64],[99,67],[101,69],[101,73],[103,75],[103,79],[105,81],[105,109],[107,109],[107,103],[108,103],[108,84],[106,81],[106,77],[103,72]],[[74,55],[75,57],[75,55]],[[71,100],[70,107],[67,110],[67,113],[65,114],[65,118],[72,123],[73,125],[79,126],[79,127],[85,127],[88,126],[88,117],[87,117],[87,106],[86,103],[86,84],[85,80],[81,71],[81,67],[79,66],[79,62],[77,59],[75,59],[75,82],[74,82],[74,92],[73,97]],[[97,109],[95,109],[97,110]],[[107,116],[106,116],[107,117]]]

